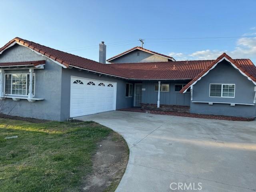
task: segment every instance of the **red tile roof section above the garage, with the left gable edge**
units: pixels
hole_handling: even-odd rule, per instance
[[[39,52],[48,58],[51,58],[52,60],[55,60],[59,62],[60,64],[69,67],[69,66],[76,66],[80,67],[86,70],[91,70],[99,73],[104,73],[104,74],[110,74],[110,75],[115,75],[115,76],[122,76],[120,72],[118,72],[115,68],[112,68],[110,66],[106,66],[105,64],[101,64],[99,62],[82,58],[80,56],[76,56],[70,53],[62,52],[50,47],[46,47],[28,40],[24,40],[22,38],[14,38],[10,42],[8,42],[6,45],[4,45],[2,48],[0,48],[0,52],[2,52],[4,49],[8,48],[12,43],[18,42],[26,47],[31,48],[32,50]]]

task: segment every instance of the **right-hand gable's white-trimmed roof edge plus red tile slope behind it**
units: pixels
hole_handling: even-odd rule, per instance
[[[195,78],[193,78],[186,86],[180,90],[180,93],[186,92],[188,88],[196,84],[203,76],[208,74],[219,62],[222,60],[227,60],[232,64],[232,66],[238,71],[246,76],[248,80],[251,80],[256,85],[256,66],[252,63],[250,59],[232,59],[226,53],[221,54],[216,60],[214,60],[207,68],[200,72]]]

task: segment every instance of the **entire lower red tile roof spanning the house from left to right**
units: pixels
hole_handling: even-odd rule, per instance
[[[5,46],[0,48],[0,54],[6,49],[19,44],[30,48],[37,54],[50,58],[53,62],[64,68],[75,67],[99,74],[116,76],[124,79],[138,80],[168,80],[168,79],[196,79],[197,76],[206,73],[217,60],[193,60],[193,61],[171,61],[171,62],[148,62],[148,63],[124,63],[124,64],[102,64],[93,60],[82,58],[73,54],[52,49],[28,40],[14,38]],[[226,58],[230,58],[225,54]],[[223,57],[223,54],[222,54]],[[229,59],[238,68],[246,73],[252,80],[256,79],[256,66],[250,59]],[[30,63],[31,61],[27,62]],[[40,62],[40,61],[38,61]],[[43,61],[41,61],[43,62]],[[19,64],[22,62],[18,62]],[[17,62],[16,62],[17,64]],[[3,64],[4,65],[4,64]],[[15,64],[14,64],[15,65]],[[200,76],[198,77],[200,78]],[[197,78],[197,79],[198,79]],[[195,81],[195,80],[194,80]],[[193,83],[193,82],[192,82]],[[189,85],[188,85],[189,86]],[[185,86],[185,87],[188,87]],[[184,88],[185,88],[184,87]]]

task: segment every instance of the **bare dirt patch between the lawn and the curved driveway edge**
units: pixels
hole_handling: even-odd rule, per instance
[[[128,146],[122,136],[115,132],[98,142],[97,145],[98,149],[92,158],[93,171],[84,179],[81,191],[114,191],[128,163]]]

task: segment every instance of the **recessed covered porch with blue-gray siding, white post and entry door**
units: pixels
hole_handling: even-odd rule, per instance
[[[189,111],[191,93],[180,90],[188,84],[188,79],[144,80],[134,82],[134,107],[163,111]]]

